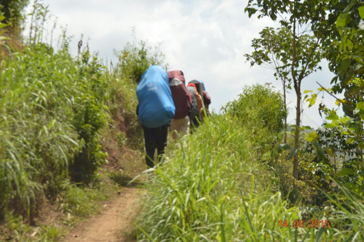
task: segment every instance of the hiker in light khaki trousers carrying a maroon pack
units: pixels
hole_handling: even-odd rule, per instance
[[[172,137],[177,139],[177,132],[182,135],[189,134],[190,130],[190,111],[191,111],[191,94],[185,86],[185,77],[182,71],[168,72],[169,87],[172,92],[174,106],[176,107],[175,115],[171,119]]]

